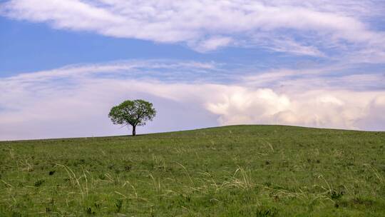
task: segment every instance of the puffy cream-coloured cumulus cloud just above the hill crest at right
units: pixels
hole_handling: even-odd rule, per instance
[[[220,114],[220,123],[268,123],[328,128],[368,129],[360,125],[366,119],[367,109],[376,97],[384,92],[317,90],[302,94],[277,94],[272,89],[241,89],[224,96],[225,99],[209,103],[207,109]],[[354,99],[351,99],[354,97]],[[379,105],[374,106],[380,109]],[[371,109],[371,111],[374,111]],[[379,111],[377,129],[384,129],[384,118]]]

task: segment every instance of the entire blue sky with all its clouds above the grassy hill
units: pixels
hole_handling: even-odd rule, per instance
[[[385,130],[384,1],[0,1],[0,140],[227,124]]]

